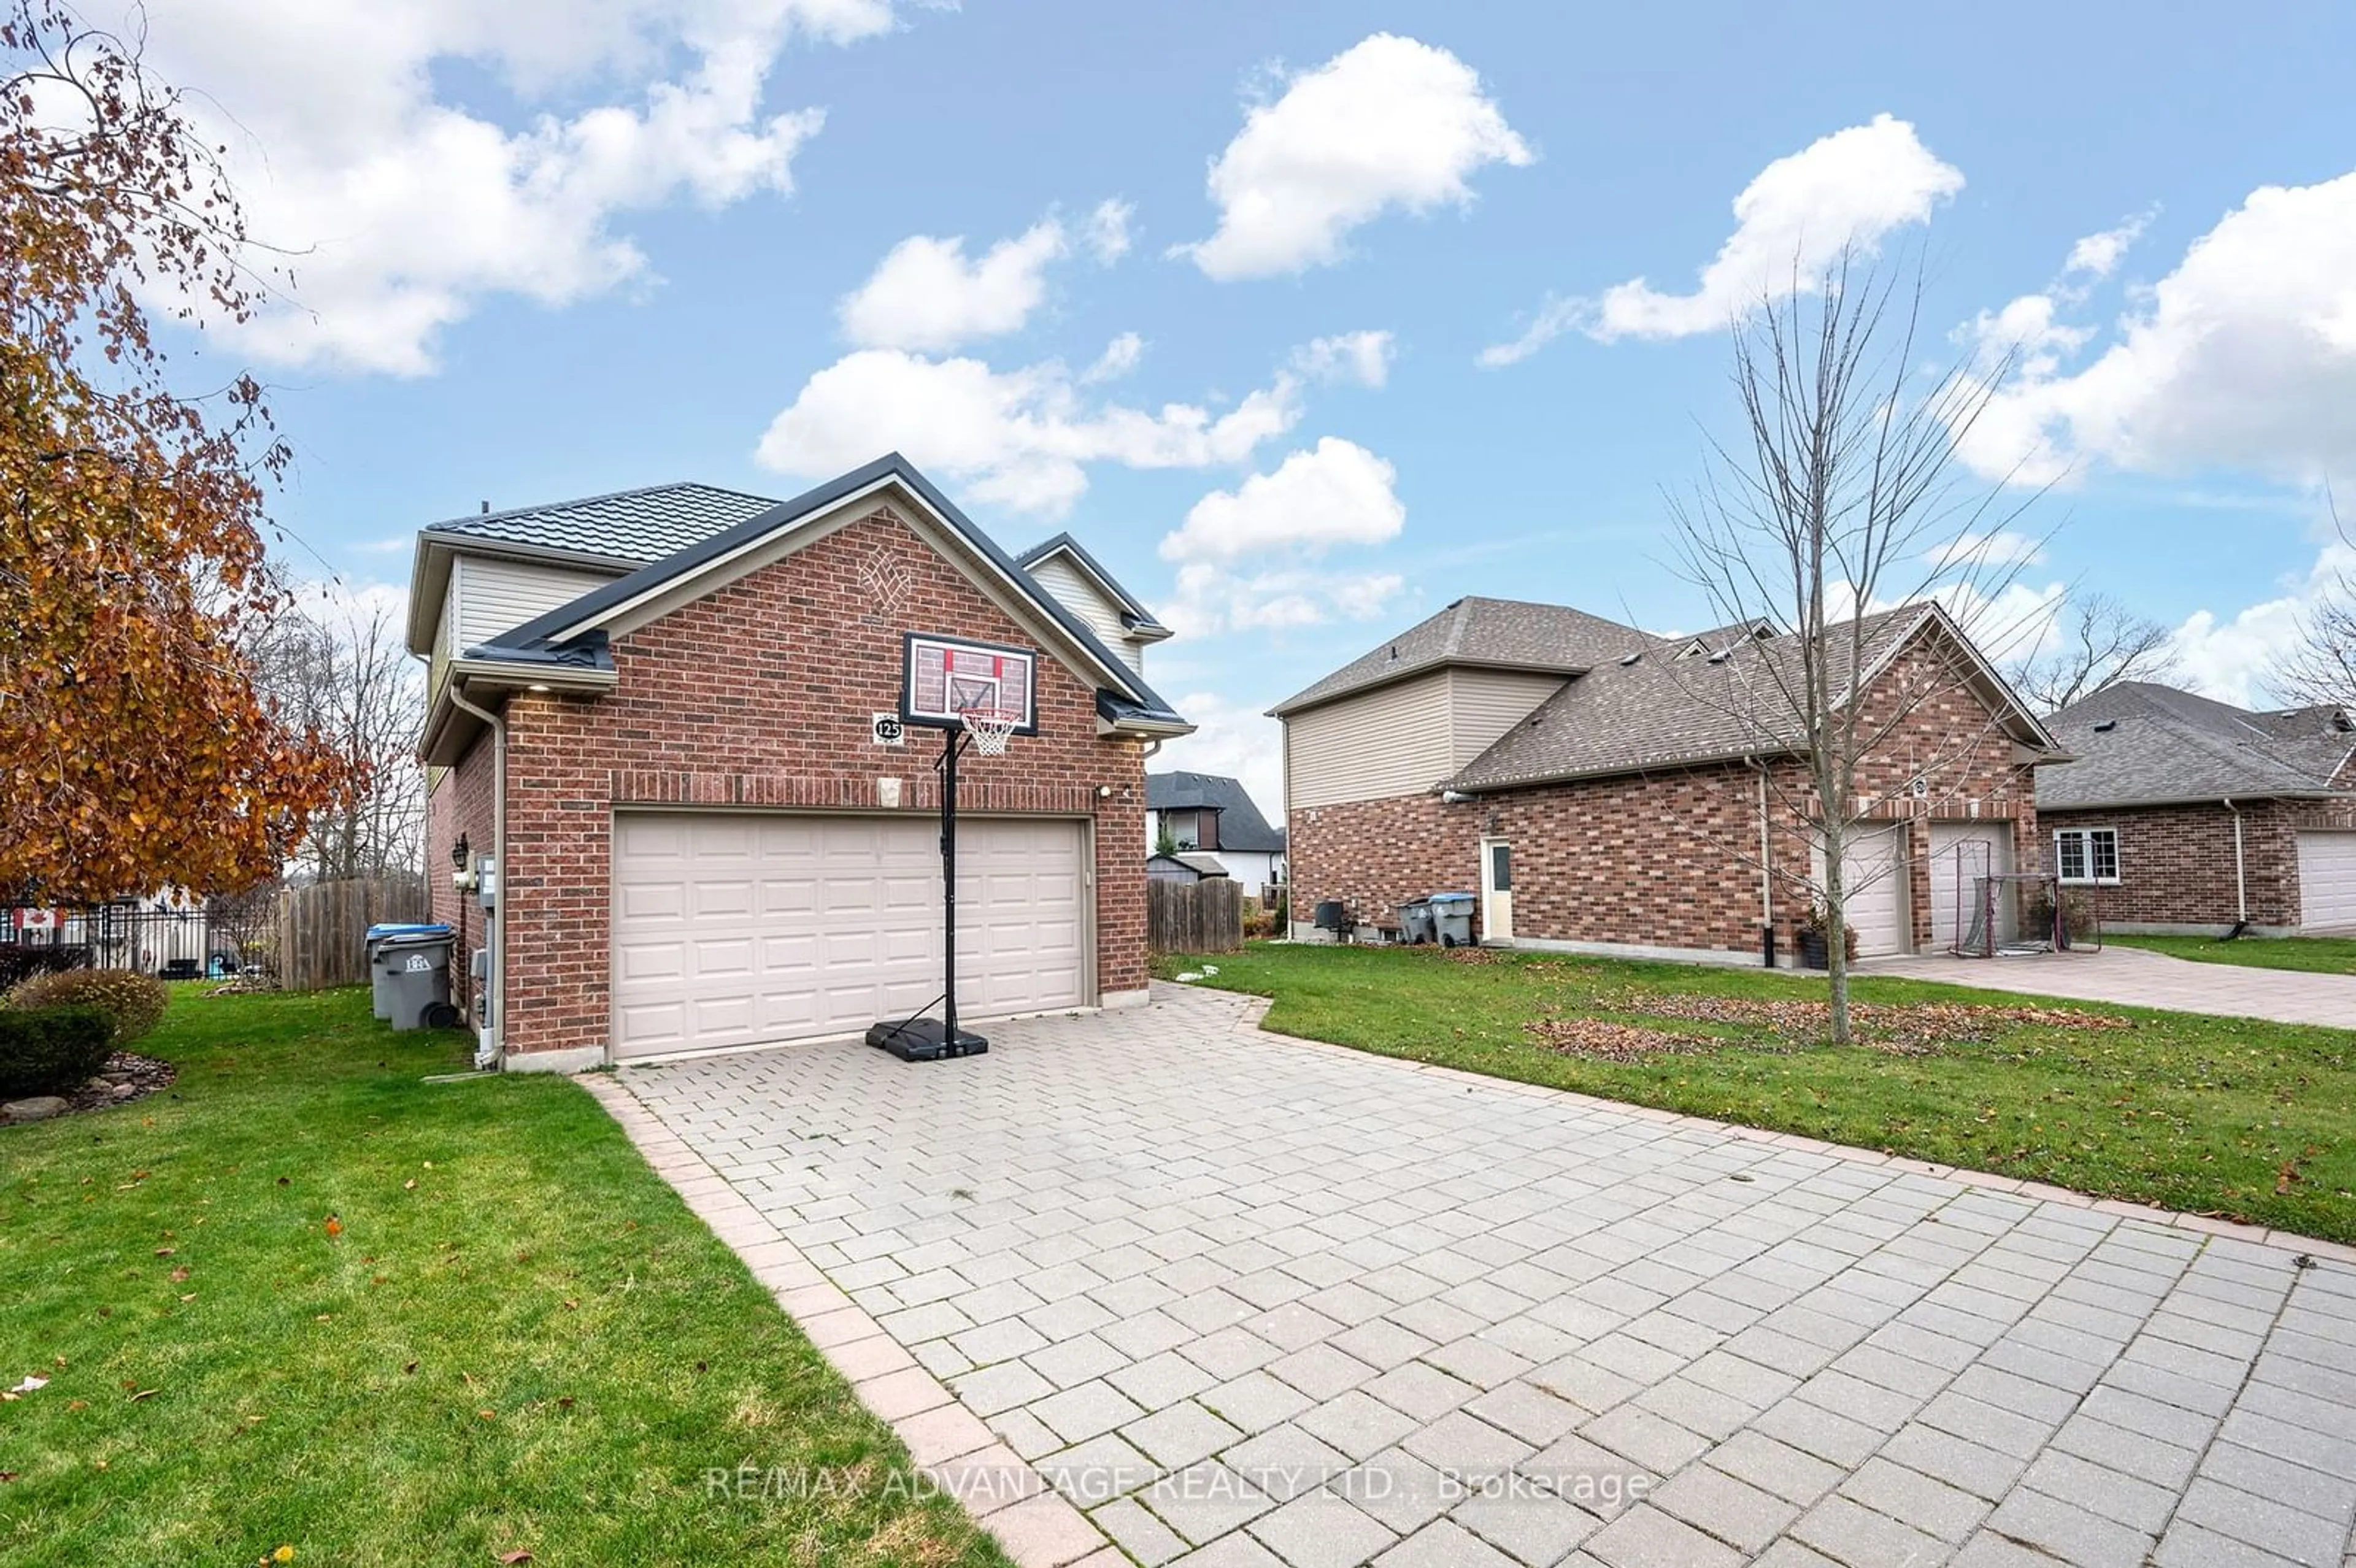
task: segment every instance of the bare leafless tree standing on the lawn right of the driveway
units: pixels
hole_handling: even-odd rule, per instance
[[[2026,551],[2007,527],[2029,497],[2003,485],[1965,487],[1955,454],[2010,374],[2012,360],[1918,367],[1922,283],[1899,292],[1854,254],[1819,275],[1793,275],[1783,299],[1762,299],[1734,323],[1732,381],[1741,433],[1710,443],[1708,473],[1673,499],[1677,565],[1710,612],[1743,636],[1696,671],[1689,690],[1727,704],[1758,737],[1760,756],[1793,756],[1762,786],[1814,824],[1824,850],[1819,899],[1831,979],[1833,1041],[1849,1034],[1845,857],[1859,819],[1859,763],[1965,671],[1932,659],[1920,678],[1873,704],[1857,678],[1885,647],[1885,605],[1939,600],[1970,631],[2019,574]],[[1769,633],[1755,643],[1748,626]],[[1703,662],[1692,662],[1703,664]],[[1986,725],[1955,735],[1963,756]],[[1920,772],[1937,763],[1925,758]],[[1920,777],[1920,775],[1918,775]],[[1765,855],[1765,850],[1758,850]]]

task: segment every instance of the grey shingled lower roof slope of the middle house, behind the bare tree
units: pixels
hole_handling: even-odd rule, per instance
[[[1927,605],[1868,614],[1861,622],[1866,671],[1878,669],[1932,614]],[[1713,650],[1734,647],[1729,659],[1680,659],[1677,650],[1694,640],[1654,640],[1635,664],[1597,664],[1505,730],[1447,789],[1515,789],[1793,751],[1800,723],[1769,664],[1791,671],[1786,678],[1795,680],[1798,643],[1753,640],[1743,624],[1699,638]],[[1831,650],[1833,683],[1845,687],[1852,638],[1833,636]]]

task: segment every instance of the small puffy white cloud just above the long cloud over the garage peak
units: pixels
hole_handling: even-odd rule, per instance
[[[1046,264],[1072,252],[1055,219],[1041,219],[980,259],[966,259],[964,235],[909,235],[836,315],[862,348],[957,348],[1004,337],[1046,299]]]

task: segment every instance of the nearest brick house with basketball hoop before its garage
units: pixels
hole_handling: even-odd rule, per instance
[[[898,454],[789,501],[657,485],[422,530],[429,859],[495,859],[436,878],[483,1055],[575,1071],[938,998],[942,732],[879,723],[907,633],[1037,652],[1037,735],[959,770],[964,1015],[1140,1001],[1145,753],[1190,725],[1096,610]]]

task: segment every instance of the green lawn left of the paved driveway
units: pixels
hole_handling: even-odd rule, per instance
[[[577,1085],[177,991],[172,1090],[0,1130],[0,1563],[1004,1566]]]

